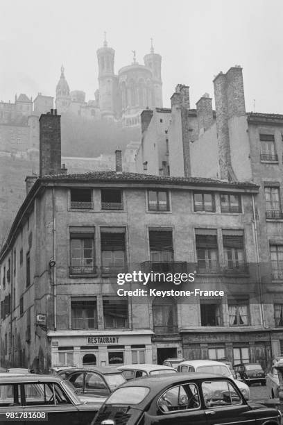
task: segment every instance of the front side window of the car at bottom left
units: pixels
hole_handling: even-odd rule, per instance
[[[69,404],[58,384],[53,383],[28,383],[24,384],[26,406],[42,406],[55,404]]]

